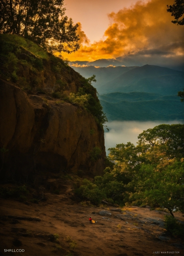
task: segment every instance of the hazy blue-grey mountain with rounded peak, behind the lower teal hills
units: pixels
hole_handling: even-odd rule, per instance
[[[133,68],[97,88],[99,94],[139,91],[161,95],[174,95],[182,89],[183,72],[153,65]]]

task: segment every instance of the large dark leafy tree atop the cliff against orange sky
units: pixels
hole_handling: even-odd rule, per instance
[[[79,49],[78,24],[65,15],[64,0],[0,0],[0,33],[16,34],[49,52]]]

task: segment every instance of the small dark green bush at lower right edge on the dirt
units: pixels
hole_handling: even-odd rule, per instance
[[[173,236],[183,238],[183,224],[179,223],[173,216],[164,216],[165,228]]]

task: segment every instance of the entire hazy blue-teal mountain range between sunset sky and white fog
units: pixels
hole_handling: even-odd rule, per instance
[[[183,72],[154,65],[142,67],[74,67],[82,76],[96,75],[99,99],[111,120],[183,119]]]

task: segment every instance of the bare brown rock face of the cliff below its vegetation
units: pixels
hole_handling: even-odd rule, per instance
[[[85,109],[46,95],[27,95],[0,80],[0,120],[0,148],[8,149],[2,175],[20,179],[36,170],[102,174],[104,131]],[[102,151],[95,163],[90,160],[94,147]]]

